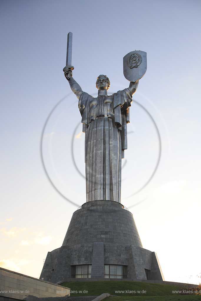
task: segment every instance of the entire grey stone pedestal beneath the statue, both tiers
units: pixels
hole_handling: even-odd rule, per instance
[[[142,247],[132,213],[113,201],[87,202],[74,212],[62,247],[48,252],[40,279],[72,281],[77,265],[91,265],[92,279],[116,278],[105,275],[104,266],[118,265],[124,267],[121,278],[164,280],[156,253]]]

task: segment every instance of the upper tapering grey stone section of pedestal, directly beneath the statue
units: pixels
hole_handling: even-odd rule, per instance
[[[143,247],[132,213],[114,201],[84,203],[73,213],[62,246],[95,242]]]

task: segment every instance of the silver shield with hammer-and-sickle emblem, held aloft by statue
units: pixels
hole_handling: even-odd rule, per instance
[[[146,52],[141,50],[131,51],[123,58],[124,76],[130,82],[136,82],[146,72]]]

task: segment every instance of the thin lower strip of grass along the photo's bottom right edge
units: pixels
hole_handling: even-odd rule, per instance
[[[201,296],[108,297],[104,301],[197,301]]]

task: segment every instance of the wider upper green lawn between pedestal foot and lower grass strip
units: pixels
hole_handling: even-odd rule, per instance
[[[125,301],[125,300],[149,300],[147,296],[159,296],[150,298],[150,300],[199,300],[201,296],[181,296],[175,295],[172,293],[172,290],[179,290],[181,288],[176,285],[169,284],[153,284],[145,282],[135,282],[135,281],[93,281],[93,282],[64,282],[62,286],[69,287],[71,291],[75,290],[77,293],[71,293],[71,296],[99,296],[102,293],[110,293],[115,296],[124,296],[120,297],[109,297],[111,301]],[[83,293],[84,290],[87,290],[88,293]],[[135,290],[141,291],[136,293],[120,293],[115,292],[115,290]],[[146,293],[142,293],[142,290],[146,290]],[[82,291],[82,292],[79,292]],[[133,296],[133,298],[125,298]],[[136,296],[140,296],[137,298]],[[160,296],[165,296],[162,299]],[[168,297],[169,296],[169,297]],[[168,299],[169,298],[169,299]],[[176,299],[175,299],[176,298]],[[180,299],[179,299],[180,298]],[[185,299],[186,298],[186,299]],[[194,299],[193,299],[194,298]],[[195,299],[196,298],[196,299]]]

